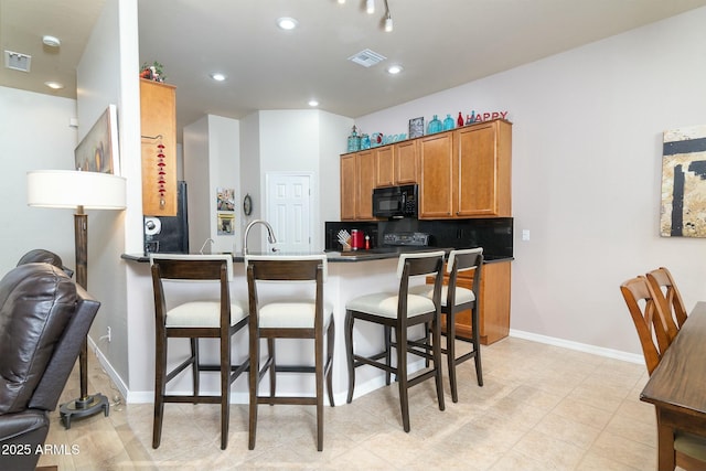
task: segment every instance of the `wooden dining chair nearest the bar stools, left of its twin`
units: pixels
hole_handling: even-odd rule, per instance
[[[631,278],[620,285],[620,291],[638,330],[642,353],[652,375],[671,344],[665,328],[662,303],[655,298],[652,283],[644,276]],[[685,431],[674,436],[676,464],[686,470],[706,470],[706,439]]]

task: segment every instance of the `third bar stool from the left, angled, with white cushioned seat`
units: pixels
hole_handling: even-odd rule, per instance
[[[425,251],[403,254],[397,264],[399,278],[398,292],[376,292],[361,296],[345,304],[345,350],[349,364],[347,403],[353,400],[355,387],[355,368],[363,365],[375,366],[389,374],[394,373],[399,383],[399,405],[402,408],[403,428],[409,431],[409,387],[434,377],[436,379],[439,410],[443,410],[443,385],[441,379],[441,330],[440,299],[443,266],[443,251]],[[434,295],[431,298],[409,292],[409,279],[417,276],[435,275]],[[382,352],[364,356],[353,351],[353,324],[355,320],[381,324],[384,330],[385,347]],[[431,344],[428,349],[415,349],[407,342],[407,329],[414,325],[431,325]],[[391,330],[395,331],[395,343],[389,341]],[[391,349],[397,351],[397,364],[392,366]],[[431,353],[429,353],[431,352]],[[432,367],[427,367],[411,376],[407,374],[407,353],[430,360]],[[384,358],[384,362],[381,361]]]

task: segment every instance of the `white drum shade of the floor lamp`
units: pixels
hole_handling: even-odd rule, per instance
[[[110,173],[77,170],[36,170],[26,173],[30,206],[124,210],[126,179]]]

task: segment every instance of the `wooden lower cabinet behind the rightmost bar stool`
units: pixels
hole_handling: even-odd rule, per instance
[[[445,270],[446,272],[446,270]],[[475,270],[461,271],[457,278],[457,285],[463,288],[473,288],[473,274]],[[511,261],[493,261],[483,265],[480,286],[479,310],[479,336],[483,345],[490,345],[507,336],[510,332],[510,276]],[[432,280],[427,280],[432,283]],[[445,275],[443,283],[448,285],[449,277]],[[446,319],[441,327],[446,325]],[[443,328],[446,330],[446,328]],[[471,310],[456,314],[456,334],[470,339]]]

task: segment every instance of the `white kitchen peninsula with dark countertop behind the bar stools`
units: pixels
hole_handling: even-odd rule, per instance
[[[435,249],[428,247],[428,249]],[[374,291],[397,291],[399,287],[399,280],[397,279],[397,261],[400,253],[405,251],[419,251],[420,248],[405,248],[405,247],[378,247],[372,250],[357,250],[350,253],[342,251],[327,251],[329,267],[328,278],[324,285],[325,302],[332,307],[335,321],[335,350],[333,355],[333,394],[338,405],[345,404],[345,396],[347,393],[347,366],[345,361],[345,345],[343,342],[343,324],[345,319],[345,303],[349,299],[360,296],[366,292]],[[275,255],[295,255],[276,253]],[[142,344],[140,351],[143,354],[142,361],[145,361],[150,368],[146,370],[146,374],[153,374],[153,355],[154,355],[154,314],[151,292],[151,277],[149,269],[149,257],[143,255],[122,255],[125,260],[129,261],[130,269],[133,270],[136,278],[140,280],[139,289],[143,291],[142,297],[142,310],[146,313],[142,322],[142,327],[139,330],[140,335],[135,335],[131,342]],[[512,258],[500,258],[496,260],[490,260],[485,268],[492,266],[510,266]],[[247,281],[245,278],[245,265],[242,254],[234,254],[234,279],[231,283],[231,296],[234,301],[240,301],[247,303]],[[419,283],[424,283],[425,279],[417,280]],[[202,288],[202,287],[200,287]],[[203,289],[203,288],[202,288]],[[278,288],[277,296],[288,297],[296,293],[292,291],[297,288],[291,288],[289,291],[282,292],[281,288]],[[180,297],[183,300],[196,299],[201,295],[197,288],[193,286],[183,286],[180,290]],[[271,295],[270,292],[263,291],[263,296]],[[505,333],[506,334],[506,333]],[[375,325],[366,325],[361,323],[356,325],[356,345],[355,349],[363,354],[379,351],[383,345],[383,331],[376,329]],[[307,345],[309,347],[309,345]],[[212,360],[212,356],[217,357],[217,347],[215,344],[208,345],[203,349],[204,361]],[[234,361],[244,358],[247,356],[247,333],[236,334],[233,340]],[[278,343],[278,356],[280,358],[298,358],[301,354],[301,344],[296,341],[280,341]],[[176,363],[178,358],[183,357],[188,353],[188,343],[170,345],[170,363]],[[302,354],[302,357],[308,357],[307,353]],[[413,368],[422,366],[422,362],[419,364],[410,365]],[[356,388],[355,397],[364,395],[371,390],[384,386],[385,375],[376,368],[361,368],[356,374]],[[148,381],[149,379],[149,381]],[[153,377],[143,378],[142,384],[151,384]],[[313,379],[303,375],[280,375],[278,376],[278,390],[290,394],[301,394],[312,390]],[[204,376],[202,379],[202,388],[206,390],[215,390],[217,388],[216,375],[213,377]],[[183,378],[175,379],[174,388],[180,390],[189,390],[190,381],[188,375]],[[146,392],[147,393],[147,392]],[[247,403],[247,382],[236,381],[232,387],[233,400],[235,403]]]

